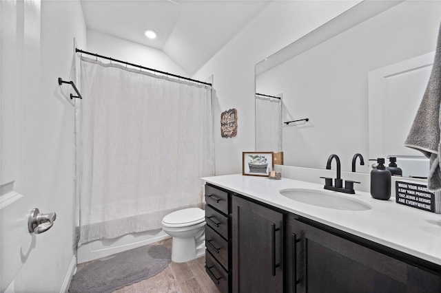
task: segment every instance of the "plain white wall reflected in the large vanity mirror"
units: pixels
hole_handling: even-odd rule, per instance
[[[323,169],[336,153],[342,170],[351,171],[355,153],[375,159],[369,158],[368,72],[435,50],[440,19],[440,1],[404,1],[259,76],[259,91],[283,93],[285,121],[309,118],[283,127],[285,164]]]

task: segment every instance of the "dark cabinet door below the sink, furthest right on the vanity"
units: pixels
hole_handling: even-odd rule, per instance
[[[289,217],[289,292],[441,292],[440,276]]]

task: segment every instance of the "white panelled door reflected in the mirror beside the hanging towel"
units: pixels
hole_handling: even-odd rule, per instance
[[[369,72],[369,158],[398,157],[404,177],[427,177],[429,159],[404,146],[404,141],[424,96],[434,58],[435,52],[431,52]]]

